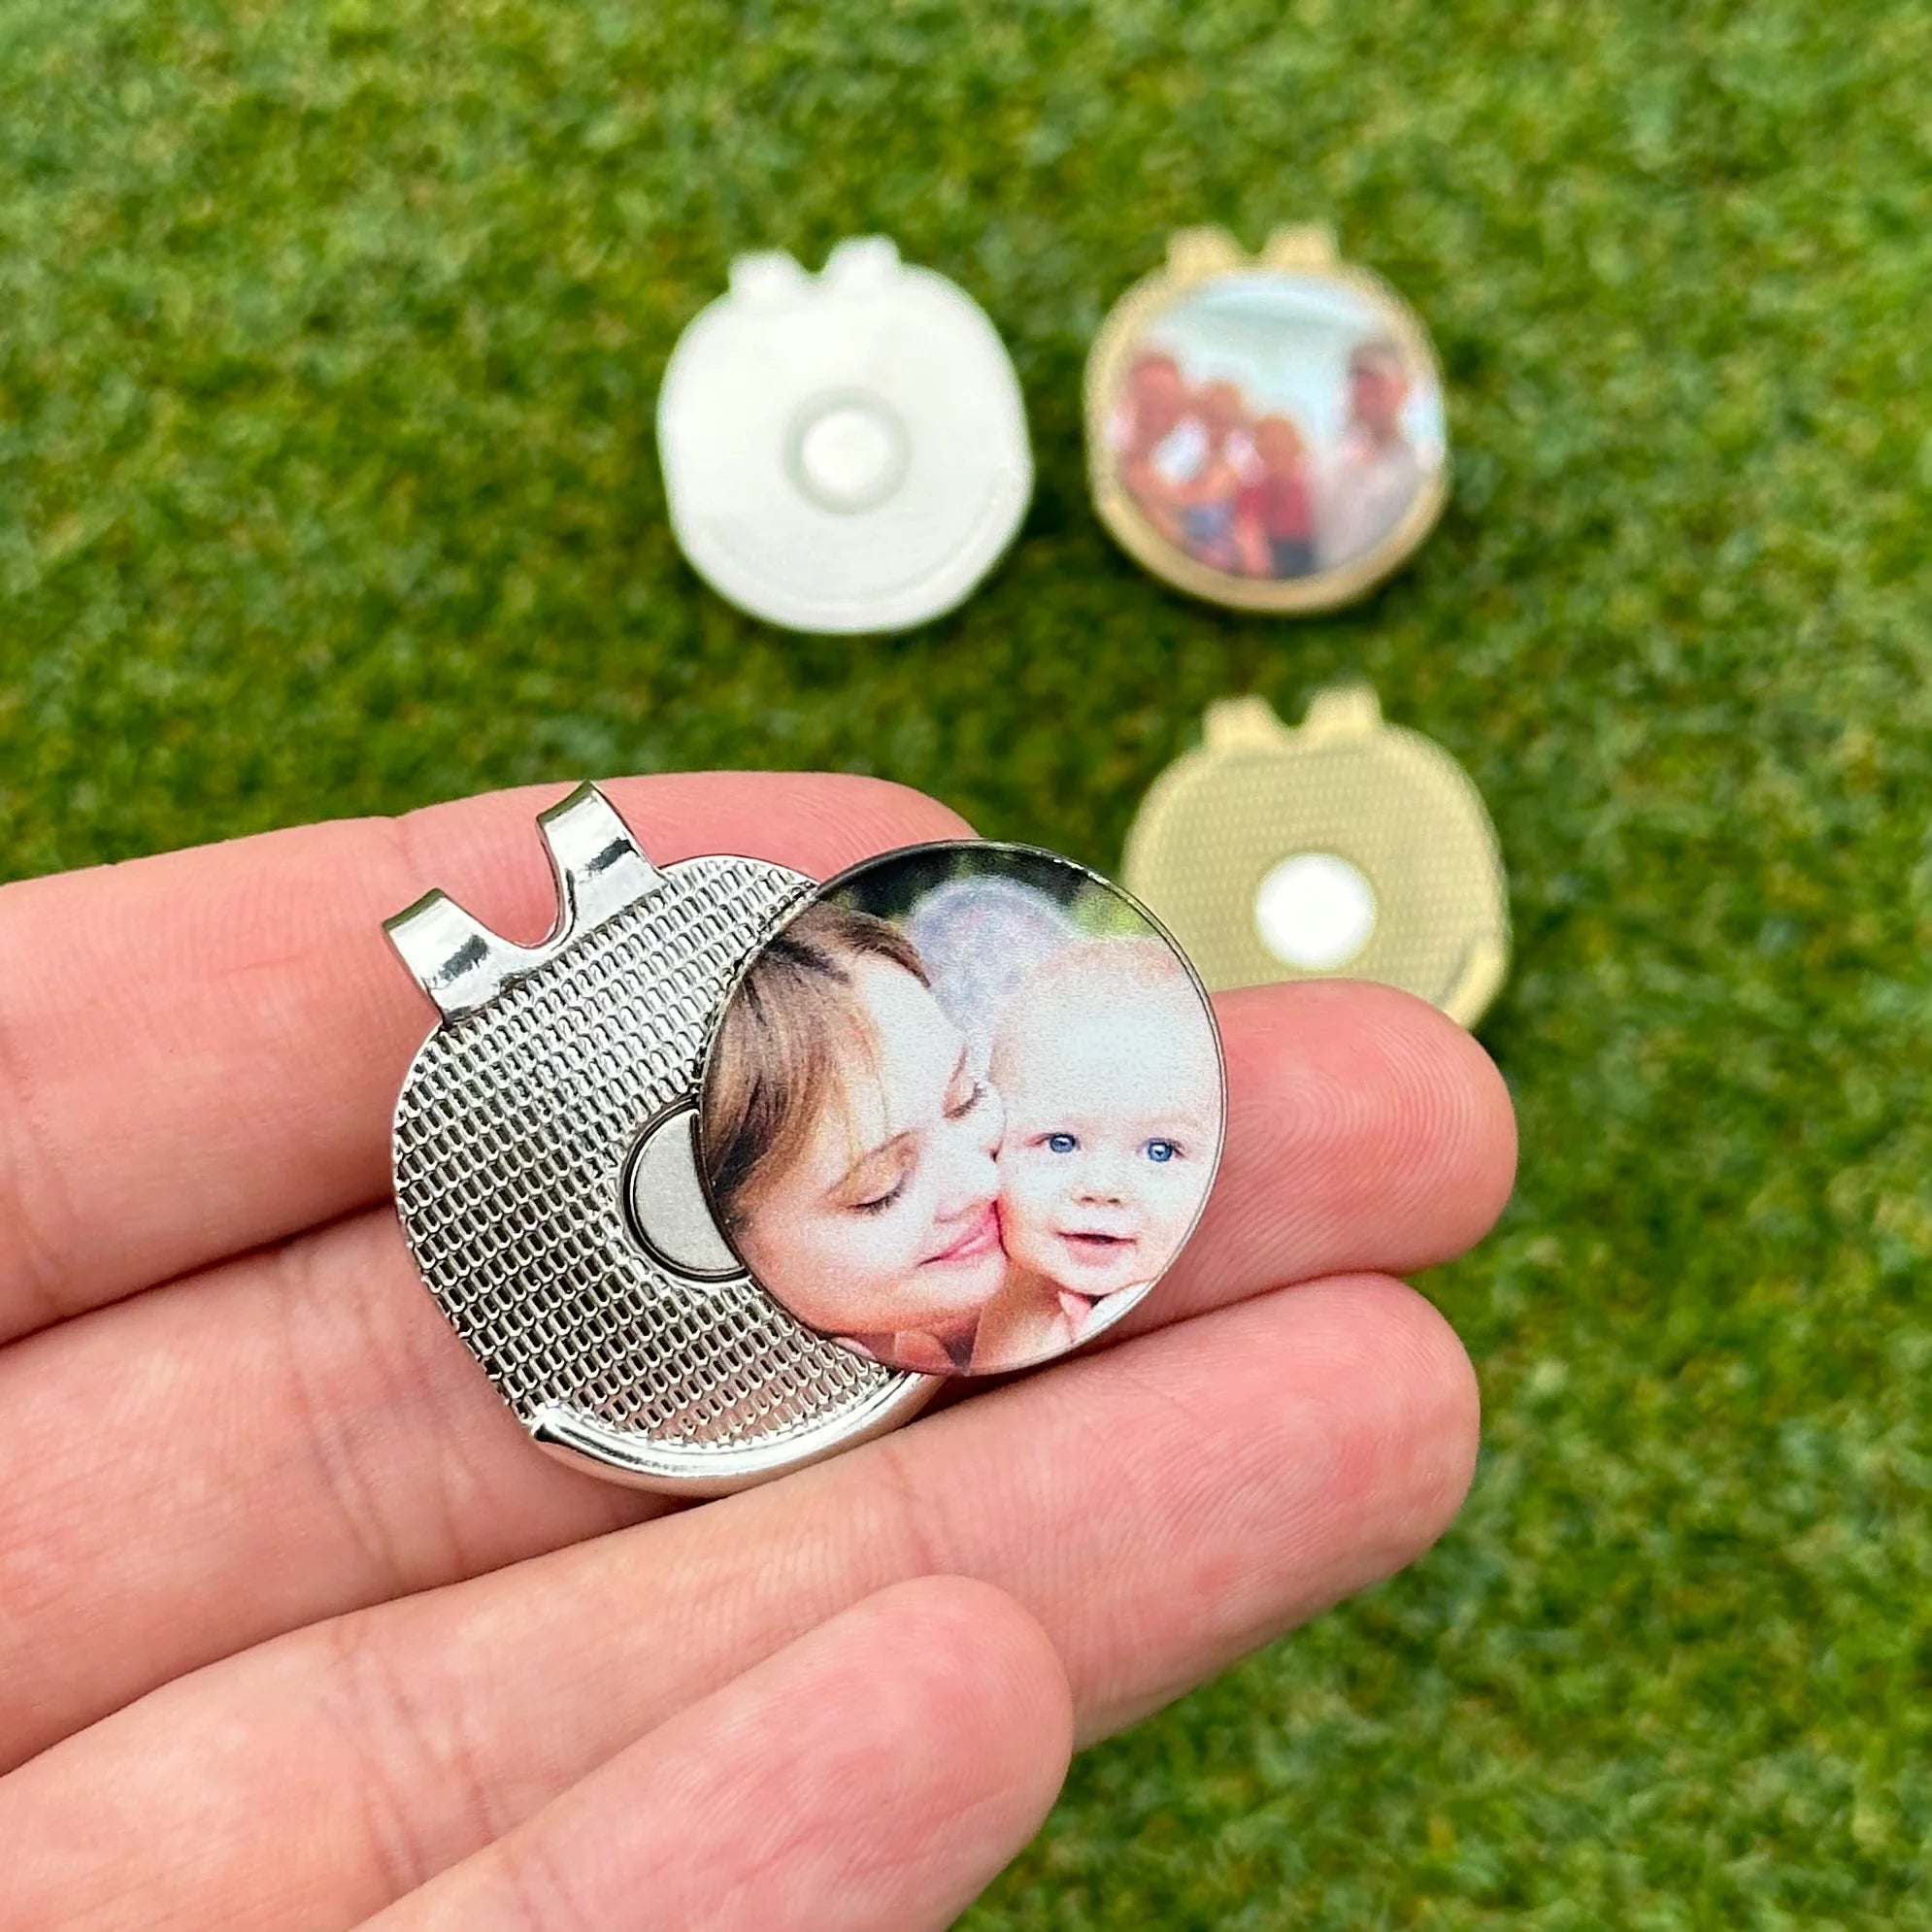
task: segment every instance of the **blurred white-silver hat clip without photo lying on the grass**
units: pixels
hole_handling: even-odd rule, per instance
[[[823,274],[740,255],[678,338],[657,402],[678,545],[742,611],[788,630],[910,630],[958,605],[1034,489],[999,332],[883,236]]]

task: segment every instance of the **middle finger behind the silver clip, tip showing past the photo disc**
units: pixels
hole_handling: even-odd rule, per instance
[[[1119,1335],[1482,1235],[1509,1107],[1461,1028],[1368,985],[1219,1005],[1221,1184]],[[116,1432],[75,1434],[100,1405]],[[0,1350],[0,1768],[247,1644],[663,1507],[531,1451],[386,1209]]]

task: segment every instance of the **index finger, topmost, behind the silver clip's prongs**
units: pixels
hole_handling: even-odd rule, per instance
[[[435,1014],[383,922],[429,887],[506,939],[556,912],[527,786],[0,889],[0,1341],[381,1196]],[[825,877],[968,827],[877,779],[620,779],[659,864]]]

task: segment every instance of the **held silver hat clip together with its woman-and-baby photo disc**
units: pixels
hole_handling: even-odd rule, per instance
[[[823,885],[657,867],[580,786],[535,947],[386,923],[439,1010],[396,1103],[402,1231],[529,1434],[705,1495],[1119,1321],[1227,1117],[1192,966],[1051,852],[908,846]]]

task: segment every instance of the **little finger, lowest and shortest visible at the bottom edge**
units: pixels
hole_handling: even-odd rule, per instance
[[[937,1932],[1039,1828],[1070,1748],[1066,1673],[1018,1604],[964,1577],[898,1584],[367,1932],[638,1924],[645,1899],[680,1932]]]

